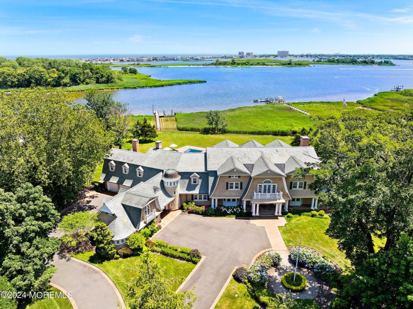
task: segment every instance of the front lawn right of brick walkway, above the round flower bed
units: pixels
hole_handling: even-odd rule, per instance
[[[329,224],[330,219],[297,216],[289,220],[285,226],[278,228],[287,246],[298,246],[302,233],[301,246],[323,253],[327,259],[336,262],[344,272],[349,272],[350,261],[338,250],[337,242],[324,234]]]

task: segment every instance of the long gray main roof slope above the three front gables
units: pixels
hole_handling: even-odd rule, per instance
[[[254,164],[262,155],[274,164],[285,164],[291,156],[304,163],[319,161],[313,147],[207,147],[207,169],[219,169],[231,156],[242,164]]]

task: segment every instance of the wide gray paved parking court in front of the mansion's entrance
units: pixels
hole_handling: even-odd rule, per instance
[[[250,220],[211,218],[182,213],[162,228],[156,239],[184,246],[206,256],[183,290],[194,286],[194,308],[209,309],[234,267],[249,265],[255,254],[271,248],[264,226]]]

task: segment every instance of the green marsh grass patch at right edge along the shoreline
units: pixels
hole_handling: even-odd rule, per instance
[[[404,96],[393,91],[383,91],[357,104],[378,111],[397,111],[413,105],[413,97]]]

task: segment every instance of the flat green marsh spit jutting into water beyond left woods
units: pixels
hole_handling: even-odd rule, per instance
[[[85,91],[86,89],[128,89],[128,88],[144,88],[144,87],[162,87],[162,86],[172,86],[179,84],[193,84],[193,83],[206,83],[202,80],[155,80],[150,77],[150,75],[145,74],[124,74],[122,75],[123,81],[116,80],[115,83],[111,84],[88,84],[88,85],[77,85],[70,87],[63,87],[65,91]]]

